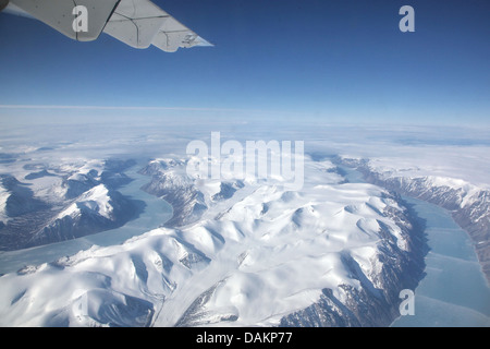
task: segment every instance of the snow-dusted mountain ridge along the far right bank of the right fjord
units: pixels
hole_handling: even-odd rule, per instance
[[[444,207],[471,237],[490,282],[490,190],[449,176],[430,176],[422,168],[390,167],[367,159],[340,158],[357,168],[366,181]]]

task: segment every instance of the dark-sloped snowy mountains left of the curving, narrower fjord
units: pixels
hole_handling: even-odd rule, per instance
[[[0,176],[0,250],[74,239],[124,225],[140,207],[117,189],[133,160],[27,164]],[[19,180],[20,178],[21,180]]]

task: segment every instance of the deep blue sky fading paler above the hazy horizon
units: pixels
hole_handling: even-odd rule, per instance
[[[1,13],[0,105],[490,124],[490,1],[154,2],[216,46],[166,53],[105,34],[76,43]],[[415,33],[399,29],[404,4]],[[0,118],[42,110],[0,107]]]

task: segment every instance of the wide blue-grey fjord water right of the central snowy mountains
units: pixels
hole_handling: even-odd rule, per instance
[[[346,167],[342,170],[348,181],[364,182],[358,171]],[[490,287],[470,237],[446,209],[413,197],[403,198],[426,220],[430,251],[425,258],[426,276],[414,290],[414,315],[400,316],[392,326],[490,326]]]

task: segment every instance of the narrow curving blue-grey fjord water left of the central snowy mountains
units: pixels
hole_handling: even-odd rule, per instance
[[[134,180],[119,190],[123,195],[145,202],[145,210],[138,218],[128,221],[120,228],[78,239],[17,251],[2,251],[0,252],[0,274],[16,272],[26,265],[53,262],[60,257],[88,250],[93,245],[108,246],[119,244],[134,236],[158,228],[169,220],[172,217],[172,206],[166,201],[139,189],[149,181],[149,178],[137,173],[138,169],[139,167],[135,166],[126,171],[126,174]]]

